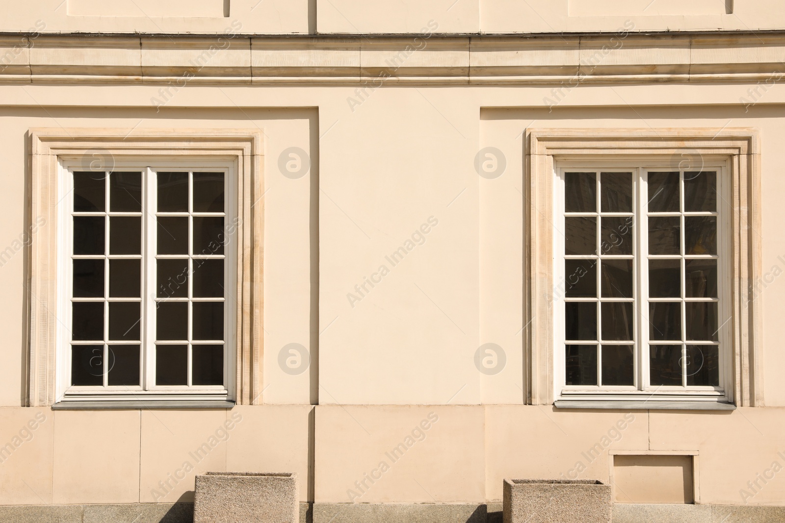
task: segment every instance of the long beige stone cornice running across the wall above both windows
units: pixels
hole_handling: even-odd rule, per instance
[[[0,36],[0,84],[776,82],[785,35]]]

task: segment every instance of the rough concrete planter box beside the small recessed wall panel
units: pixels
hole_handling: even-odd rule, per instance
[[[504,523],[611,523],[611,485],[594,479],[505,479]]]

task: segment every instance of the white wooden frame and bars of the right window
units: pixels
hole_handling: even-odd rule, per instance
[[[715,171],[717,173],[717,296],[718,296],[718,323],[719,330],[717,332],[719,342],[717,345],[720,347],[720,369],[719,369],[719,387],[676,387],[676,386],[656,386],[652,387],[649,384],[649,368],[648,368],[648,345],[649,344],[662,344],[666,342],[656,342],[648,340],[648,217],[646,215],[645,198],[648,194],[645,187],[646,173],[648,172],[664,172],[664,171],[677,171],[681,173],[685,171],[695,171],[697,169],[679,169],[674,167],[672,162],[649,158],[636,162],[619,161],[615,158],[608,158],[605,160],[591,161],[575,161],[564,160],[554,162],[553,176],[553,356],[554,356],[554,397],[557,400],[594,400],[603,399],[609,401],[625,401],[636,399],[649,399],[661,401],[732,401],[732,387],[728,387],[728,383],[732,383],[732,358],[729,356],[729,343],[731,340],[730,326],[728,325],[731,318],[731,307],[729,307],[728,299],[731,294],[731,275],[728,270],[728,260],[732,256],[731,241],[728,231],[731,231],[730,214],[732,207],[730,205],[728,173],[730,172],[730,165],[728,161],[713,160],[701,163],[703,171]],[[634,383],[633,386],[571,386],[566,385],[565,382],[565,340],[564,340],[564,294],[566,289],[566,280],[564,274],[564,234],[559,234],[557,231],[563,231],[564,227],[564,173],[567,172],[617,172],[617,173],[633,173],[633,297],[635,311],[634,318]],[[681,182],[680,182],[681,183]],[[599,201],[600,194],[597,194]],[[598,204],[599,205],[599,204]],[[599,208],[597,211],[599,212]],[[641,216],[646,218],[641,219]],[[599,221],[599,220],[598,220]],[[599,227],[599,223],[597,224]],[[682,226],[683,227],[683,226]],[[682,234],[683,238],[683,234]],[[683,252],[683,249],[682,249]],[[597,271],[597,290],[600,287],[600,271]],[[682,278],[683,279],[683,278]],[[685,285],[685,281],[681,282]],[[599,300],[599,297],[597,298]],[[682,336],[686,329],[685,325],[685,307],[681,307],[681,329]],[[598,336],[601,329],[601,319],[597,317],[597,330]],[[590,343],[592,344],[592,343]],[[627,343],[622,343],[627,344]],[[686,343],[690,344],[690,343]],[[703,343],[695,343],[703,344]],[[599,379],[601,372],[601,346],[602,343],[595,343],[597,346],[597,376]]]

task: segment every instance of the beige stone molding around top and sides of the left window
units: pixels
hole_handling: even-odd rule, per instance
[[[133,134],[133,136],[132,136]],[[83,170],[111,170],[114,162],[228,162],[237,175],[237,325],[234,390],[229,398],[242,405],[261,403],[262,249],[264,202],[261,201],[261,136],[250,131],[177,132],[141,129],[31,129],[30,191],[32,228],[29,275],[30,340],[27,405],[53,405],[57,398],[58,187],[64,164]],[[231,350],[231,347],[230,347]],[[138,408],[140,401],[129,407]],[[174,406],[162,402],[162,406]],[[182,405],[177,405],[182,406]]]

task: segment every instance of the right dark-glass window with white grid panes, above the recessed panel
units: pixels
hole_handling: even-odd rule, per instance
[[[554,311],[562,397],[724,397],[721,165],[560,166]]]

